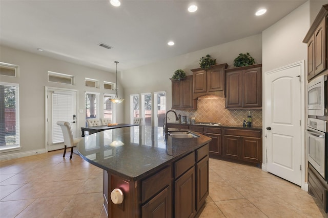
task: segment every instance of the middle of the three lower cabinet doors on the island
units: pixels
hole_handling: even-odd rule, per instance
[[[175,181],[175,217],[195,215],[195,166]]]

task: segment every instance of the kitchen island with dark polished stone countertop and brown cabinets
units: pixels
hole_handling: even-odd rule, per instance
[[[165,138],[161,127],[133,126],[83,138],[77,144],[80,156],[104,169],[108,217],[197,216],[209,194],[211,141],[197,135]]]

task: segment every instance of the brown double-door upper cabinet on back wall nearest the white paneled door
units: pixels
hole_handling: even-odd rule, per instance
[[[262,64],[226,70],[226,108],[262,108]]]

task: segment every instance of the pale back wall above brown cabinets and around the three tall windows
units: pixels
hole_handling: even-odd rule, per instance
[[[171,81],[174,71],[185,70],[187,75],[192,75],[190,69],[199,68],[199,59],[207,54],[216,59],[217,64],[228,63],[228,68],[233,68],[233,61],[240,53],[249,52],[256,63],[262,63],[262,34],[250,36],[236,41],[209,47],[208,49],[188,53],[161,62],[137,67],[122,72],[126,101],[130,94],[144,92],[166,91],[166,109],[172,106]],[[125,122],[130,120],[130,102],[125,104]]]

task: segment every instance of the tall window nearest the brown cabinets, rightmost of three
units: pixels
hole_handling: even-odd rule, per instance
[[[166,95],[165,91],[154,93],[154,126],[163,127],[166,113]]]

